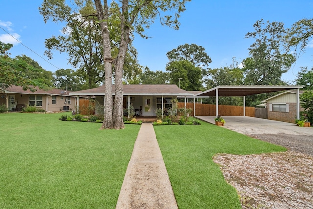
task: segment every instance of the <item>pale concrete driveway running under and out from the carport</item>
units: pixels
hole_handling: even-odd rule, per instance
[[[284,146],[292,151],[313,155],[313,127],[248,116],[222,116],[224,128],[253,138]],[[215,116],[195,116],[215,124]]]

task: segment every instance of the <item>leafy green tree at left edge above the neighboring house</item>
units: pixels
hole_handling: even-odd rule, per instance
[[[42,68],[36,68],[28,64],[24,59],[12,59],[7,52],[13,47],[0,41],[0,88],[5,89],[12,85],[22,86],[24,90],[36,91],[34,87],[46,89],[44,79],[32,77],[31,74],[41,74]]]

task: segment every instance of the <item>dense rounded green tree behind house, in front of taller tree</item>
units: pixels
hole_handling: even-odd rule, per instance
[[[193,91],[202,87],[201,68],[194,66],[187,60],[173,61],[166,66],[169,72],[170,83],[176,84],[179,88]]]

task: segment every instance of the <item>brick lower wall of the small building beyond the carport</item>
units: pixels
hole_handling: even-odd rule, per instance
[[[295,119],[296,119],[296,115],[297,115],[297,104],[296,103],[286,103],[286,104],[289,104],[289,112],[288,113],[269,111],[269,108],[267,108],[268,119],[269,120],[289,122],[289,123],[295,123]],[[267,107],[269,107],[269,103],[267,104]]]

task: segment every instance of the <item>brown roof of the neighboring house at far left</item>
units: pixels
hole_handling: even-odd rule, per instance
[[[19,94],[32,94],[32,95],[45,95],[45,94],[52,94],[52,95],[60,95],[60,96],[69,96],[70,91],[62,90],[62,89],[49,89],[49,90],[42,90],[38,87],[35,87],[36,91],[32,92],[29,89],[23,90],[21,86],[10,86],[6,89],[2,89],[4,93],[19,93]]]

